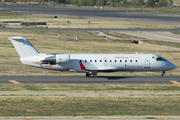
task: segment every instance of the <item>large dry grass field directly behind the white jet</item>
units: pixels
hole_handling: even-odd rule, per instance
[[[0,75],[84,75],[81,73],[57,72],[44,69],[38,69],[22,65],[19,55],[14,49],[7,37],[24,36],[41,53],[143,53],[158,54],[178,66],[178,69],[167,72],[166,75],[179,75],[180,51],[160,48],[155,46],[137,45],[126,41],[107,42],[104,37],[95,36],[83,31],[1,31],[0,32]],[[79,41],[74,38],[79,36]],[[13,66],[13,67],[12,67]],[[122,76],[148,76],[152,73],[136,72],[118,72],[99,75],[122,75]],[[160,72],[154,72],[153,75],[160,75]]]

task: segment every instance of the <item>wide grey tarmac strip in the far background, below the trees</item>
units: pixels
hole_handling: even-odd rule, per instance
[[[180,21],[179,14],[126,12],[83,7],[0,5],[0,9],[11,10],[13,13],[42,14],[46,16],[56,15],[58,17],[85,17],[89,19],[153,24],[179,25]]]

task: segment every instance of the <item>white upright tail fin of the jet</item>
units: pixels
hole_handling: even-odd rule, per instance
[[[39,54],[36,48],[24,37],[18,36],[8,39],[11,40],[21,58],[37,56]]]

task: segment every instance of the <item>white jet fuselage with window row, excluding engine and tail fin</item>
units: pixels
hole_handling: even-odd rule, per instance
[[[82,70],[79,61],[87,70],[95,72],[115,71],[167,71],[175,69],[176,66],[167,60],[158,61],[162,58],[155,54],[69,54],[70,61],[63,64],[39,64],[41,60],[53,55],[39,55],[21,58],[23,64],[34,67],[58,70],[76,71]]]

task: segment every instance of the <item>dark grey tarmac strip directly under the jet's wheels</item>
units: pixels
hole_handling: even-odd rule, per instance
[[[0,76],[0,84],[180,84],[180,77]]]

